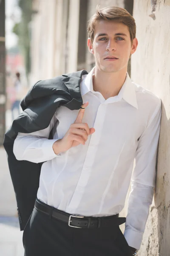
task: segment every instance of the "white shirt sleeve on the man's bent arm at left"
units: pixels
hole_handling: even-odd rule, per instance
[[[57,123],[55,115],[47,128],[29,134],[18,133],[13,152],[17,160],[27,160],[33,163],[42,163],[60,156],[52,148],[57,140],[48,140],[51,129]]]

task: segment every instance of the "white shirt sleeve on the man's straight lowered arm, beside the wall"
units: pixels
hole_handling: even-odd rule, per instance
[[[149,207],[153,200],[156,156],[161,122],[161,100],[139,139],[136,166],[131,179],[124,236],[129,246],[140,248]]]

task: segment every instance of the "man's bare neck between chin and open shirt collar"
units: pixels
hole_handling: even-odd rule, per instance
[[[126,79],[127,70],[122,69],[115,73],[106,73],[95,68],[93,88],[102,94],[105,99],[116,96]]]

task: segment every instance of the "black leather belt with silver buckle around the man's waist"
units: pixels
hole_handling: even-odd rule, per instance
[[[86,217],[70,215],[67,212],[60,211],[54,207],[44,204],[40,200],[36,199],[35,209],[40,212],[56,218],[57,220],[68,223],[70,227],[78,228],[100,228],[100,227],[111,227],[112,225],[119,226],[125,223],[126,218],[118,218],[119,214],[111,215],[107,217]]]

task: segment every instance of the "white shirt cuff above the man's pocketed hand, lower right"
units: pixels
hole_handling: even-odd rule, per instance
[[[143,233],[131,229],[125,229],[124,236],[129,246],[138,250],[140,249]]]

